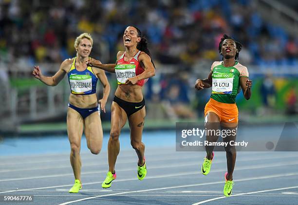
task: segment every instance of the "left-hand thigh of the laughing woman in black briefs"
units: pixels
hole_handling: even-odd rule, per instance
[[[112,102],[111,108],[111,134],[120,134],[127,120],[126,112],[116,103]]]

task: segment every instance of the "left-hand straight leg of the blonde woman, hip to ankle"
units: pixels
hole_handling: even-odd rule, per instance
[[[67,133],[71,146],[70,162],[74,171],[75,179],[81,181],[81,138],[83,133],[83,118],[75,110],[68,108]]]

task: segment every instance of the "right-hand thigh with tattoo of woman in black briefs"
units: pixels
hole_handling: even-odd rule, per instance
[[[146,116],[145,106],[138,112],[135,112],[129,116],[131,141],[137,141],[137,142],[142,141],[142,132],[145,124],[145,116]]]

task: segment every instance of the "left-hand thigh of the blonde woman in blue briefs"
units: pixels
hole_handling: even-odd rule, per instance
[[[67,133],[70,143],[81,145],[81,138],[83,133],[83,118],[72,108],[67,111]]]

